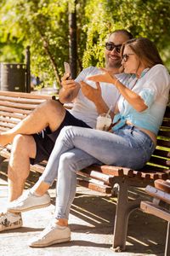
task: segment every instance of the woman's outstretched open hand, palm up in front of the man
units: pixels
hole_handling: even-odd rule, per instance
[[[103,71],[103,73],[88,77],[88,80],[92,80],[94,82],[104,82],[104,83],[109,83],[109,84],[116,83],[116,78],[111,73],[111,71],[108,71],[105,68],[100,68],[100,70]]]

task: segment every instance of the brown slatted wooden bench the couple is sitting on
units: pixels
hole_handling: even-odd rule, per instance
[[[0,132],[8,131],[24,119],[38,104],[50,96],[37,96],[27,93],[0,91]],[[141,197],[129,200],[131,187],[144,188],[153,185],[156,179],[166,180],[170,177],[170,108],[159,131],[157,147],[148,163],[140,171],[121,166],[89,166],[77,172],[77,183],[88,189],[94,189],[111,195],[114,185],[118,184],[119,193],[116,204],[116,218],[112,247],[115,251],[123,251],[126,247],[128,217],[133,210],[139,208]],[[160,148],[163,147],[163,148]],[[11,145],[1,150],[3,159],[10,156]],[[122,156],[123,157],[123,156]],[[156,166],[154,166],[156,165]],[[45,162],[31,166],[32,171],[43,172]]]

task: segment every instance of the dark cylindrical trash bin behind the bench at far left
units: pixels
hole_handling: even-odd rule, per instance
[[[26,64],[1,63],[1,90],[26,91]]]

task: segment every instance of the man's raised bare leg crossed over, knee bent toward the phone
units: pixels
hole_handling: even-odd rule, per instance
[[[0,134],[0,145],[4,146],[12,143],[17,134],[31,135],[42,131],[49,126],[51,131],[55,131],[65,118],[65,108],[59,102],[48,100],[40,104],[26,119],[9,131]]]

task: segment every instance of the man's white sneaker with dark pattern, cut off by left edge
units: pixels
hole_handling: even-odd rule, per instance
[[[5,212],[0,214],[0,232],[3,230],[14,230],[22,226],[21,214]]]

